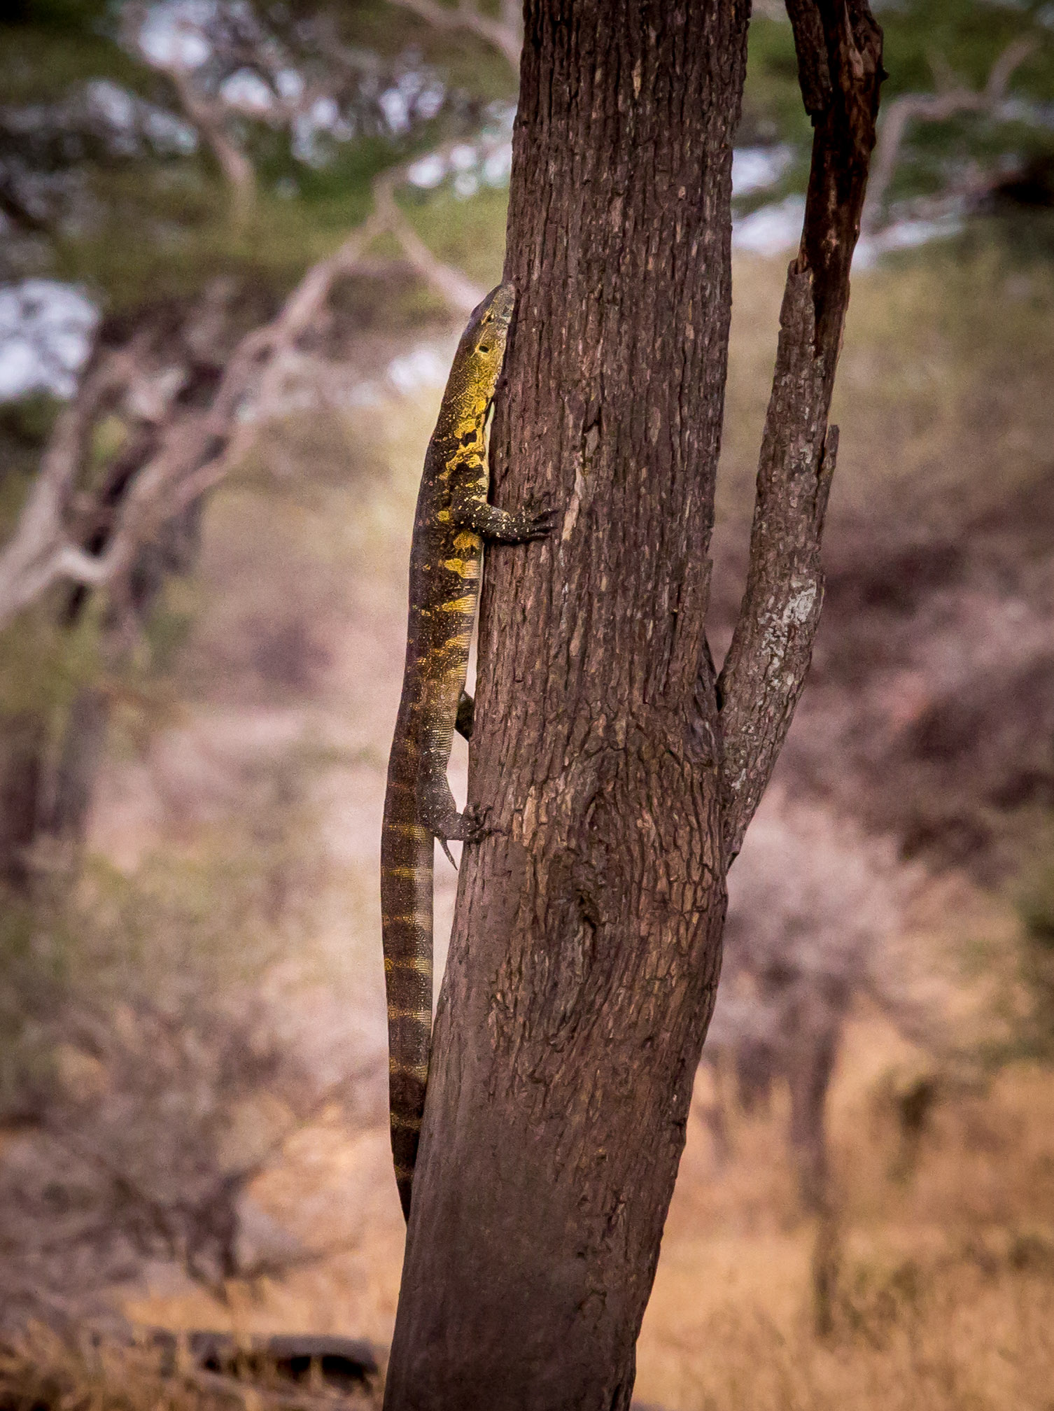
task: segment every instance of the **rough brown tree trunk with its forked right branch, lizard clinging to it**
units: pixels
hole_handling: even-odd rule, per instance
[[[708,540],[746,0],[528,0],[466,849],[389,1411],[618,1411],[714,999],[725,871],[818,618],[827,429],[880,80],[865,0],[793,6],[816,124],[752,567],[721,677]]]

